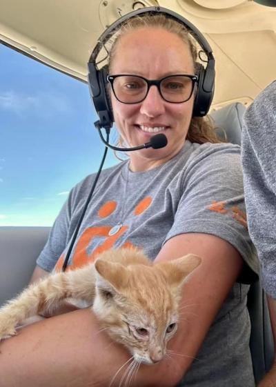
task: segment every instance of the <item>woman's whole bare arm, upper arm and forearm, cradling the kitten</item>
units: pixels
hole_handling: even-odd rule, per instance
[[[242,258],[233,246],[204,234],[170,239],[157,260],[175,259],[190,252],[203,258],[184,286],[184,302],[189,299],[194,306],[169,344],[171,350],[190,357],[179,356],[173,361],[164,359],[154,366],[141,366],[133,386],[177,384],[188,370],[191,358],[197,355],[210,324],[242,270]],[[130,358],[124,348],[99,332],[97,319],[88,309],[23,328],[17,337],[3,341],[0,350],[0,386],[5,387],[108,387],[117,370]],[[113,386],[119,386],[122,373]]]

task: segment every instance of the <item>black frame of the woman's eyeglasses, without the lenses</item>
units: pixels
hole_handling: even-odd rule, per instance
[[[140,78],[140,79],[144,79],[144,81],[146,81],[146,85],[147,85],[147,91],[146,91],[145,97],[143,99],[141,99],[141,101],[137,101],[137,102],[123,102],[123,101],[121,101],[117,97],[117,95],[115,93],[115,90],[114,90],[114,86],[113,86],[114,80],[116,78],[118,78],[118,77],[137,77],[137,78]],[[184,101],[180,101],[180,102],[168,101],[168,99],[163,97],[163,95],[161,93],[161,82],[164,81],[164,79],[168,79],[168,78],[172,78],[172,77],[186,77],[186,78],[189,78],[192,81],[192,88],[191,88],[191,91],[190,91],[190,97],[192,97],[193,91],[195,89],[195,83],[198,83],[198,81],[199,81],[199,77],[197,75],[172,74],[172,75],[167,75],[166,77],[163,77],[161,79],[147,79],[145,77],[141,77],[141,75],[115,74],[115,75],[107,75],[106,80],[108,81],[108,83],[110,83],[112,91],[113,91],[117,101],[119,101],[121,103],[126,103],[127,105],[133,105],[134,103],[141,103],[141,102],[143,102],[146,99],[151,86],[157,86],[157,89],[159,91],[159,95],[161,96],[162,99],[164,99],[164,101],[166,101],[168,103],[184,103],[184,102],[187,102],[190,99],[190,97],[188,97],[188,99],[185,99]]]

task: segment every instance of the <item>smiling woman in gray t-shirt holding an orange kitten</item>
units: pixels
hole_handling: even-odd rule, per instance
[[[175,355],[140,366],[133,386],[252,387],[246,283],[257,265],[244,226],[239,147],[215,143],[210,124],[192,118],[195,67],[192,40],[166,15],[129,19],[118,32],[108,92],[121,141],[137,146],[159,132],[168,145],[130,152],[128,161],[102,172],[68,266],[82,266],[112,246],[142,247],[156,261],[201,256],[184,287],[185,318],[169,345]],[[147,88],[145,79],[159,86]],[[61,268],[94,179],[70,193],[32,281]],[[99,333],[89,310],[28,326],[1,352],[0,384],[6,387],[106,387],[129,358]]]

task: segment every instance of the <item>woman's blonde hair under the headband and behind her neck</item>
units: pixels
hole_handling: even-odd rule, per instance
[[[197,46],[195,43],[195,38],[191,36],[190,32],[188,32],[183,24],[179,23],[175,19],[172,19],[171,17],[166,16],[165,14],[144,14],[127,19],[122,25],[120,25],[115,34],[113,33],[112,37],[110,37],[110,40],[108,41],[109,68],[112,66],[112,61],[115,57],[115,52],[121,37],[123,37],[128,32],[145,27],[162,28],[168,32],[177,34],[188,45],[190,53],[193,57],[194,66],[196,68]],[[193,117],[191,119],[186,139],[196,143],[221,142],[215,133],[213,120],[208,116]]]

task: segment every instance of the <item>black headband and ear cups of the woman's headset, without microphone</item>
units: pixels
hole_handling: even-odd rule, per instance
[[[108,65],[104,65],[101,69],[98,68],[96,61],[99,52],[105,47],[105,43],[112,37],[112,34],[115,34],[126,20],[136,17],[137,15],[143,16],[143,14],[153,15],[159,13],[168,15],[171,19],[175,19],[183,24],[206,54],[206,68],[204,68],[201,63],[196,63],[196,72],[199,79],[197,82],[197,94],[195,95],[193,117],[204,117],[204,115],[207,114],[210,104],[212,103],[215,86],[215,59],[208,41],[206,41],[203,34],[201,34],[190,21],[184,19],[184,17],[181,17],[179,14],[166,8],[148,7],[130,12],[115,21],[115,23],[112,23],[112,25],[101,34],[97,45],[90,55],[88,61],[88,84],[90,96],[99,116],[99,121],[97,121],[98,128],[110,129],[114,122],[107,89],[108,81],[106,77],[108,75]]]

